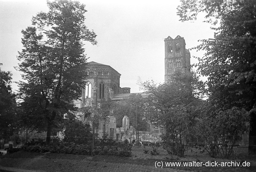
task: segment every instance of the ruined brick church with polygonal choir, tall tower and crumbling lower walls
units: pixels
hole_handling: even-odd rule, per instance
[[[164,39],[165,59],[164,68],[165,82],[169,82],[175,72],[190,73],[190,52],[186,49],[186,43],[183,37],[176,36],[172,39],[170,36]],[[147,97],[146,93],[131,93],[131,88],[120,87],[120,76],[111,66],[100,64],[97,62],[89,62],[86,65],[87,80],[86,87],[82,90],[81,101],[74,101],[74,105],[78,108],[92,106],[99,107],[100,102],[110,99],[119,101],[128,99],[131,94],[140,94]],[[82,119],[82,114],[76,114]],[[159,133],[159,129],[150,127],[149,133]],[[98,137],[102,137],[106,133],[110,138],[124,139],[133,135],[133,127],[129,124],[129,118],[124,116],[123,126],[116,128],[115,117],[108,117],[104,121],[100,121],[99,127],[96,129]]]

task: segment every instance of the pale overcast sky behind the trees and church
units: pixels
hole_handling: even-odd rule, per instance
[[[88,62],[109,65],[121,74],[120,87],[130,87],[131,92],[142,92],[137,84],[154,80],[164,82],[164,38],[184,37],[186,48],[199,44],[198,40],[213,37],[210,25],[203,23],[204,15],[194,22],[180,22],[176,15],[179,0],[169,1],[86,1],[85,24],[94,30],[97,45],[85,44]],[[31,26],[32,16],[47,12],[46,1],[0,0],[0,63],[2,70],[13,74],[15,81],[21,80],[18,66],[18,51],[22,50],[21,30]],[[190,51],[193,56],[203,52]]]

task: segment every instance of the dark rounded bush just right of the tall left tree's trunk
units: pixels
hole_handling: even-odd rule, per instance
[[[74,114],[67,114],[63,122],[64,142],[85,144],[92,138],[90,124],[76,118]]]

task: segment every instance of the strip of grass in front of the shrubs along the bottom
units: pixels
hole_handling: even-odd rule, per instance
[[[207,161],[217,161],[219,163],[221,162],[230,162],[231,160],[234,162],[240,162],[243,163],[244,161],[250,162],[250,167],[172,167],[175,169],[183,169],[183,170],[192,170],[192,171],[255,171],[256,168],[256,155],[247,155],[247,148],[234,148],[235,154],[229,159],[219,159],[219,158],[211,158],[207,155],[206,152],[204,153],[196,153],[195,151],[188,151],[185,152],[185,156],[180,158],[175,155],[169,155],[165,150],[162,148],[158,149],[158,152],[160,152],[159,155],[152,156],[149,153],[145,154],[144,149],[146,150],[152,150],[151,147],[140,147],[132,148],[132,157],[116,157],[116,156],[100,156],[96,155],[93,157],[85,156],[85,155],[73,155],[73,154],[58,154],[58,153],[36,153],[36,152],[24,152],[19,151],[15,152],[13,154],[6,154],[4,156],[1,156],[2,158],[50,158],[50,159],[70,159],[70,160],[81,160],[81,159],[90,159],[92,161],[105,161],[105,162],[111,162],[111,163],[128,163],[128,164],[140,164],[145,166],[152,166],[154,167],[156,161],[163,161],[165,162],[207,162]],[[0,161],[1,162],[1,161]],[[0,163],[0,165],[3,165]],[[163,167],[167,168],[167,167]],[[168,167],[170,168],[170,167]]]

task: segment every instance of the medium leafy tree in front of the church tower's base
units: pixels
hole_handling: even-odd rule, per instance
[[[148,93],[145,98],[145,111],[148,120],[157,127],[163,127],[162,139],[165,149],[172,154],[183,156],[192,141],[194,125],[199,118],[202,100],[195,98],[198,90],[198,77],[176,73],[172,82],[156,85],[143,83]]]

